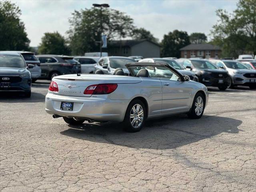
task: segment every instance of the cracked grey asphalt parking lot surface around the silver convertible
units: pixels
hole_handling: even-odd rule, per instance
[[[68,126],[32,97],[0,98],[0,191],[256,191],[256,91],[209,88],[204,116]]]

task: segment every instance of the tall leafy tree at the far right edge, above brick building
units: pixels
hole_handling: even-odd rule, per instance
[[[213,26],[212,42],[222,46],[222,56],[256,54],[256,0],[239,0],[236,10],[216,11],[219,20]]]

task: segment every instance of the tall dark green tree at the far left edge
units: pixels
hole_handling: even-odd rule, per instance
[[[21,11],[10,1],[0,1],[0,50],[29,50]]]

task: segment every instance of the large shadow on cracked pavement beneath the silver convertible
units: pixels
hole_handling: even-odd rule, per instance
[[[201,119],[188,119],[186,115],[149,120],[140,132],[127,133],[121,124],[84,123],[71,126],[61,134],[90,142],[115,144],[131,148],[172,149],[199,140],[214,138],[218,134],[237,134],[241,120],[220,116],[202,116]]]

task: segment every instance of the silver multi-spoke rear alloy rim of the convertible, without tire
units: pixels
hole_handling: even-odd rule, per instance
[[[130,123],[134,128],[139,128],[144,119],[144,110],[140,104],[135,104],[130,111]]]

